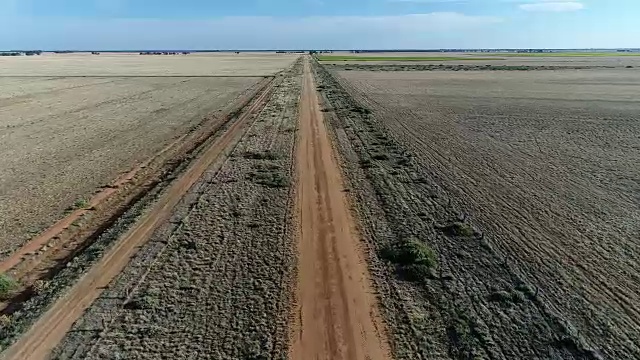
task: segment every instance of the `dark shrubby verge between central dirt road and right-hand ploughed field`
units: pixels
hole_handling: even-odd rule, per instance
[[[348,83],[341,85],[322,67],[317,71],[396,358],[622,354],[575,328],[559,311],[554,293],[541,288],[542,278],[531,277],[533,268],[505,252],[498,233],[463,205],[470,199],[442,182],[439,170],[419,151],[431,149],[437,139],[426,147],[399,136],[387,121],[404,122],[396,117],[400,113],[367,103],[366,95],[345,90]],[[406,131],[429,138],[428,132]],[[439,152],[457,146],[439,144]]]

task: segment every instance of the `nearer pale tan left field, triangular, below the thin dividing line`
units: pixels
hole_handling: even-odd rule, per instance
[[[259,79],[0,77],[3,255]]]

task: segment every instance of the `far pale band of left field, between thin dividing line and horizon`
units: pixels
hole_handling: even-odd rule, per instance
[[[0,57],[0,76],[267,76],[295,54],[44,54]]]

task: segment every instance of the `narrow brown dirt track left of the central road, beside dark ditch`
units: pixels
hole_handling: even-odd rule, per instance
[[[198,157],[155,203],[150,211],[120,238],[113,247],[67,293],[40,317],[16,343],[3,354],[3,359],[46,359],[73,323],[102,293],[109,282],[128,264],[155,228],[166,221],[182,196],[202,176],[209,165],[239,140],[247,129],[252,113],[264,106],[274,82],[233,121],[228,130]]]

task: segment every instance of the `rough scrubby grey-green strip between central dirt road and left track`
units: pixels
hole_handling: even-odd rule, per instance
[[[301,66],[74,325],[57,359],[284,359]],[[126,300],[125,300],[126,299]]]

